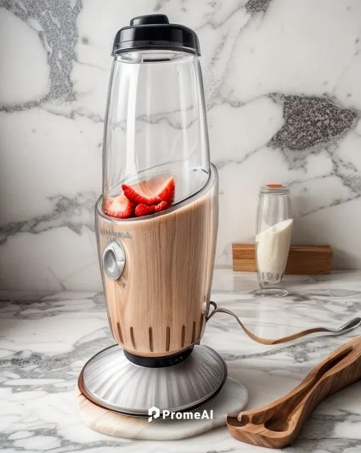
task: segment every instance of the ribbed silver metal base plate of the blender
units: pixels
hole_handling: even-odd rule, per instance
[[[148,417],[153,406],[161,413],[203,406],[218,394],[226,378],[226,363],[208,346],[195,345],[189,357],[177,365],[152,368],[130,362],[116,344],[88,360],[78,385],[98,406],[127,416]]]

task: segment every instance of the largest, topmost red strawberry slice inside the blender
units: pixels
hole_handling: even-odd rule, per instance
[[[151,206],[161,201],[173,203],[175,184],[173,177],[154,177],[148,181],[129,186],[122,184],[122,190],[130,201],[135,204]]]

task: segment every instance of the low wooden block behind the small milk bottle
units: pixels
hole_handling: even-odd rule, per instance
[[[233,270],[256,272],[254,244],[232,244]],[[329,245],[291,245],[286,274],[320,275],[331,273],[333,250]]]

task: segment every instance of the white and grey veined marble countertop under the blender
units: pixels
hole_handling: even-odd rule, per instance
[[[234,310],[260,336],[283,336],[309,326],[340,326],[361,313],[361,271],[285,278],[290,295],[257,298],[251,273],[214,273],[212,300]],[[227,428],[177,441],[123,440],[93,432],[81,422],[75,385],[82,365],[112,344],[103,295],[0,293],[1,452],[268,452],[234,440]],[[10,302],[7,300],[11,299]],[[229,375],[246,385],[247,408],[273,401],[295,387],[311,367],[360,332],[316,337],[289,346],[248,339],[227,314],[207,324],[202,343],[227,361]],[[361,451],[361,382],[314,411],[287,452]]]

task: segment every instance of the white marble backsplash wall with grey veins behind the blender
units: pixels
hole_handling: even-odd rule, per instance
[[[260,184],[290,184],[294,243],[361,267],[359,0],[0,0],[0,287],[100,290],[101,191],[115,31],[144,13],[197,31],[217,266],[254,239]]]

